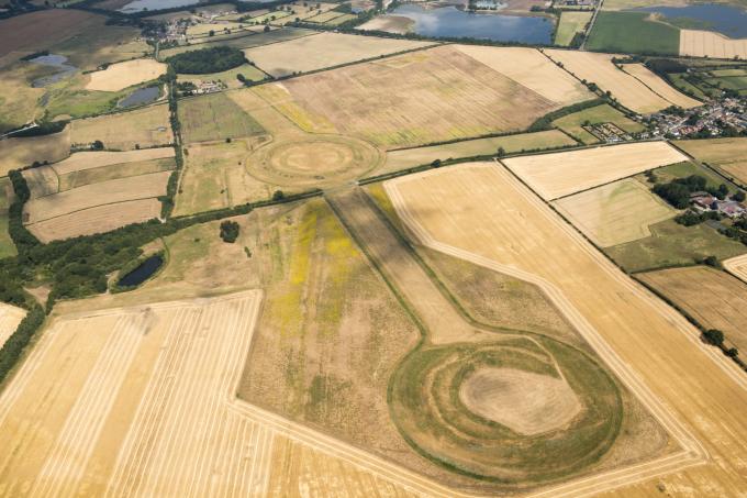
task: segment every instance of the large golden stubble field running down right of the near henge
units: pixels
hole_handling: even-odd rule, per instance
[[[694,496],[747,490],[744,374],[703,344],[687,320],[621,273],[495,164],[432,170],[386,187],[421,243],[543,288],[681,447],[548,495],[618,488],[617,496],[647,496],[657,494],[657,487]]]

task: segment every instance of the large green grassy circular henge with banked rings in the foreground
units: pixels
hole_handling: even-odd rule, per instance
[[[506,374],[511,381],[500,381],[502,372],[512,374]],[[470,410],[465,386],[475,376],[494,380],[494,386],[487,386],[490,402],[515,400],[516,389],[525,390],[529,401],[493,407],[499,417]],[[569,411],[557,397],[542,399],[547,389],[516,385],[515,379],[567,384],[565,392],[578,409]],[[532,407],[533,402],[538,405]],[[516,487],[560,479],[598,462],[614,443],[623,417],[620,391],[600,365],[546,337],[421,347],[392,377],[390,408],[404,439],[423,456],[470,477]],[[554,420],[556,408],[568,420]],[[521,422],[525,413],[544,416],[547,420],[539,422],[548,429],[538,431],[534,421],[526,433],[516,430],[524,427],[521,423],[505,422]]]

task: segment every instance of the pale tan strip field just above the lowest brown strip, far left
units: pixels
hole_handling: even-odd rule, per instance
[[[32,199],[23,208],[24,221],[32,224],[97,206],[163,196],[170,175],[161,171],[120,178]]]

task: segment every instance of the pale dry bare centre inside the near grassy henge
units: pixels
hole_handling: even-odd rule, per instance
[[[559,429],[581,411],[566,379],[515,368],[480,367],[459,386],[473,413],[524,435]]]

